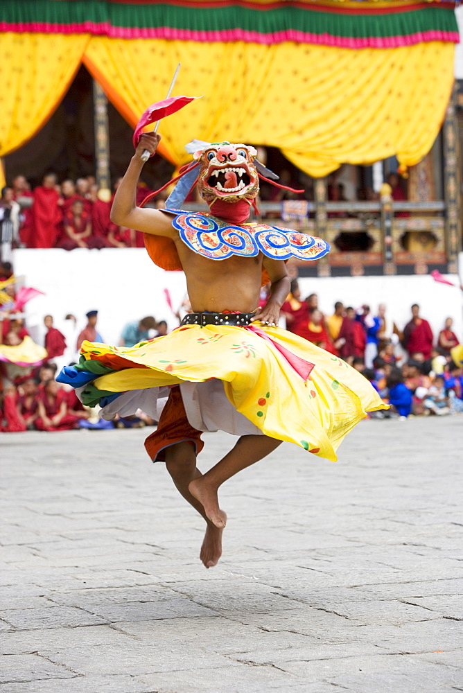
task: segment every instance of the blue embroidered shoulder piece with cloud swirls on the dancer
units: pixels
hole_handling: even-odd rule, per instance
[[[164,211],[175,214],[172,225],[184,244],[211,260],[225,260],[232,255],[254,257],[259,253],[274,260],[319,260],[330,250],[322,238],[292,229],[256,222],[234,225],[198,212]]]

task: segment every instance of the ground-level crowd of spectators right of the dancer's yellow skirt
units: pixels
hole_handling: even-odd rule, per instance
[[[385,304],[374,315],[366,304],[355,309],[337,301],[333,314],[323,315],[317,295],[302,299],[296,280],[281,315],[288,330],[347,361],[391,405],[370,416],[406,419],[410,414],[463,412],[463,346],[451,317],[435,336],[417,304],[403,328],[387,315]]]

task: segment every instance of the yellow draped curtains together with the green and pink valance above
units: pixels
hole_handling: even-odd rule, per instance
[[[184,144],[275,146],[313,176],[422,159],[453,85],[454,3],[420,0],[4,0],[0,157],[34,136],[85,62],[131,125],[164,98],[202,96],[161,123]]]

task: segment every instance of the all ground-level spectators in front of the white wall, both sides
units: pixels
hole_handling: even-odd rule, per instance
[[[73,389],[60,385],[55,374],[64,365],[75,363],[84,340],[104,342],[98,331],[98,311],[89,310],[87,324],[77,327],[74,315],[66,315],[58,329],[51,315],[44,316],[43,344],[34,344],[42,358],[24,364],[21,345],[30,340],[24,313],[14,308],[15,282],[10,263],[0,265],[0,283],[6,284],[12,303],[0,306],[0,430],[29,429],[59,431],[73,428],[132,428],[155,423],[143,412],[128,419],[101,421],[98,411],[84,407]],[[265,289],[262,295],[265,301]],[[8,308],[11,305],[12,308]],[[177,317],[191,312],[188,297]],[[333,354],[360,371],[383,400],[391,405],[379,418],[410,414],[451,414],[463,412],[463,345],[453,332],[451,317],[445,319],[435,337],[430,324],[421,317],[419,306],[411,308],[410,321],[398,326],[380,304],[376,315],[369,306],[344,306],[337,301],[332,315],[324,315],[318,297],[302,299],[297,280],[281,308],[281,322],[288,330]],[[128,322],[121,328],[120,347],[166,335],[167,324],[152,315]],[[6,349],[4,347],[7,347]],[[15,361],[16,347],[19,358]],[[2,351],[3,349],[3,351]],[[6,354],[6,356],[5,356]],[[12,356],[13,355],[13,356]]]

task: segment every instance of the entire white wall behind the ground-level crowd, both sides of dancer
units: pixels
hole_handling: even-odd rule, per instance
[[[17,275],[24,274],[26,286],[45,292],[26,306],[28,326],[42,343],[43,317],[51,313],[60,328],[64,315],[73,313],[85,325],[87,310],[97,308],[98,329],[105,341],[115,344],[126,322],[154,315],[170,328],[177,320],[166,304],[164,288],[171,292],[173,305],[180,306],[186,284],[183,272],[164,272],[154,265],[145,249],[61,249],[15,250]],[[460,284],[457,275],[447,279]],[[335,301],[354,308],[369,304],[376,313],[379,303],[388,306],[399,327],[410,319],[410,306],[417,303],[433,331],[442,329],[448,316],[455,320],[455,332],[463,338],[462,292],[435,282],[432,277],[320,277],[299,279],[302,295],[319,295],[320,308],[333,313]]]

